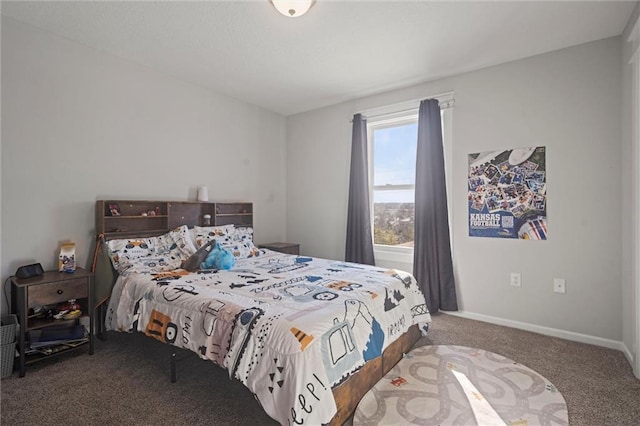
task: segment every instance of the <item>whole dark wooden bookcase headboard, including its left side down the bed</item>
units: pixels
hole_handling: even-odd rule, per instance
[[[207,223],[206,216],[209,216]],[[153,237],[182,225],[253,226],[253,203],[247,202],[190,202],[154,200],[98,200],[96,201],[96,248],[92,271],[96,307],[111,295],[117,273],[104,247],[104,241]]]

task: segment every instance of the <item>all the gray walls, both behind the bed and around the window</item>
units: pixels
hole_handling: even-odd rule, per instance
[[[286,237],[305,254],[342,259],[351,116],[453,90],[461,309],[632,350],[623,44],[602,40],[285,119],[3,17],[3,280],[26,263],[53,268],[66,239],[88,266],[96,199],[194,199],[198,185],[212,199],[253,201],[258,242]],[[531,145],[548,148],[549,240],[468,237],[467,154]],[[522,288],[509,286],[512,271]],[[553,277],[567,280],[566,295],[552,293]]]

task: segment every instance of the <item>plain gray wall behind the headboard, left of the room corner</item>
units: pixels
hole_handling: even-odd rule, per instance
[[[285,118],[2,17],[2,277],[88,266],[104,198],[254,202],[285,237]],[[4,295],[2,296],[4,300]],[[2,304],[3,312],[6,305]]]

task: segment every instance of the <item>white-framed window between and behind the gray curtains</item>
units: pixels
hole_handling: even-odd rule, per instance
[[[448,108],[448,103],[443,101],[441,108],[445,171],[449,187],[452,108]],[[367,131],[376,259],[383,258],[384,253],[413,256],[418,108],[407,110],[405,106],[402,112],[368,118]],[[450,197],[451,191],[447,190],[447,194]],[[450,198],[448,205],[451,224]],[[401,259],[394,257],[394,260]],[[410,261],[409,257],[405,261]]]

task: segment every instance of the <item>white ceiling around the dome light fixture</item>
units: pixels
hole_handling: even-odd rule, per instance
[[[635,1],[8,2],[2,14],[290,115],[620,35]]]

